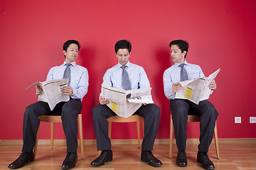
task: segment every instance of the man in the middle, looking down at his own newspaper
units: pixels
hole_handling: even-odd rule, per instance
[[[107,69],[103,77],[103,83],[117,89],[144,89],[150,88],[149,79],[146,72],[137,64],[129,62],[130,52],[132,50],[131,42],[119,40],[114,45],[118,64]],[[100,104],[92,109],[93,126],[97,139],[97,150],[102,150],[97,159],[91,162],[92,166],[102,166],[105,162],[112,161],[112,150],[110,137],[107,135],[107,118],[116,115],[107,104],[110,101],[100,94]],[[153,103],[142,105],[134,114],[144,117],[144,139],[142,142],[143,162],[149,162],[151,166],[161,166],[159,159],[152,154],[154,140],[159,127],[160,109]]]

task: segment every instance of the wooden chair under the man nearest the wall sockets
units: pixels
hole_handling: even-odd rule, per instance
[[[188,122],[200,122],[200,115],[188,115]],[[171,125],[170,125],[170,150],[169,150],[169,158],[171,158],[171,152],[172,152],[172,144],[173,144],[173,138],[174,138],[174,124],[171,117]],[[215,149],[217,154],[217,159],[220,159],[220,152],[218,147],[218,133],[217,133],[217,123],[215,123],[214,128],[214,140],[215,140]]]

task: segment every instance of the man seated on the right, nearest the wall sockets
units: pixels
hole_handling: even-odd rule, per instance
[[[186,125],[188,114],[201,115],[200,124],[200,144],[198,145],[197,162],[202,164],[204,169],[214,169],[213,162],[208,157],[208,148],[213,139],[215,120],[218,112],[215,107],[206,100],[200,101],[198,105],[186,99],[175,98],[176,93],[181,90],[179,81],[197,79],[204,77],[201,67],[196,64],[186,62],[188,53],[188,42],[184,40],[174,40],[169,44],[171,50],[171,60],[174,65],[164,72],[164,94],[170,100],[171,116],[174,123],[174,132],[178,154],[176,157],[177,166],[187,166],[186,159]],[[215,81],[211,81],[208,86],[210,90],[216,89]]]

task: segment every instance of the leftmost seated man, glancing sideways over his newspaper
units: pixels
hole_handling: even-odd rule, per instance
[[[33,162],[33,147],[36,143],[36,132],[40,120],[40,115],[53,115],[61,113],[63,130],[66,137],[67,155],[62,165],[62,169],[71,169],[78,161],[78,113],[82,110],[82,98],[87,94],[88,72],[85,67],[75,63],[78,58],[80,44],[76,40],[68,40],[63,45],[65,61],[60,66],[52,67],[48,72],[47,80],[68,79],[68,86],[61,87],[64,95],[69,96],[67,102],[58,103],[53,111],[50,111],[48,103],[38,101],[26,107],[23,118],[23,148],[21,156],[12,162],[8,167],[18,169],[28,162]],[[60,90],[58,89],[58,90]],[[36,86],[36,94],[43,93],[39,86]],[[47,167],[46,167],[47,169]]]

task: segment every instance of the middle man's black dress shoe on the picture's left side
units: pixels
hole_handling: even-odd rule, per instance
[[[113,159],[112,150],[104,150],[101,152],[100,156],[97,157],[93,162],[91,162],[92,166],[102,166],[105,162],[111,162]]]

